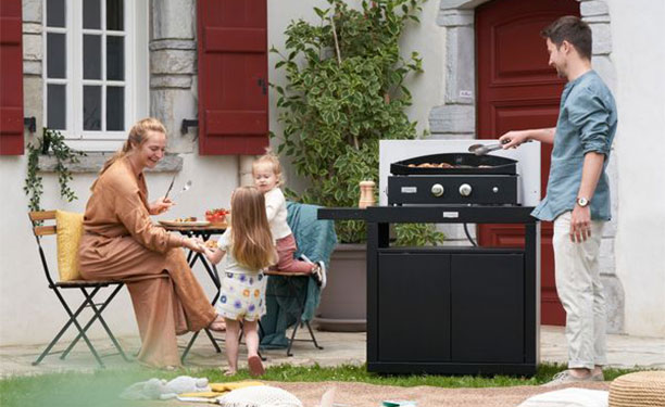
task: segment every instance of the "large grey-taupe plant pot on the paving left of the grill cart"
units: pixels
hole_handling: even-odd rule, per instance
[[[338,244],[330,256],[328,283],[314,318],[319,330],[362,332],[367,327],[367,249]]]

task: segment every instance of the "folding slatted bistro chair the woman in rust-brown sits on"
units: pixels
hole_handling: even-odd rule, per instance
[[[58,225],[50,225],[50,226],[42,225],[42,222],[47,220],[48,221],[55,220],[55,211],[30,212],[28,215],[33,224],[33,232],[35,233],[37,245],[39,246],[39,257],[41,258],[41,265],[43,266],[43,271],[46,275],[48,287],[50,290],[53,290],[53,293],[55,294],[55,296],[62,304],[63,308],[70,316],[70,319],[67,320],[67,322],[62,327],[60,332],[58,332],[58,334],[53,338],[51,343],[49,343],[49,345],[46,347],[46,349],[43,349],[41,355],[39,355],[39,357],[33,363],[33,365],[34,366],[39,365],[47,355],[52,355],[52,354],[61,353],[60,358],[64,359],[65,357],[67,357],[72,348],[74,348],[76,343],[83,339],[86,345],[88,346],[88,348],[90,349],[90,353],[92,353],[92,356],[95,356],[95,359],[97,359],[97,363],[100,365],[100,367],[104,367],[104,364],[100,355],[97,353],[97,351],[95,349],[95,346],[92,346],[92,343],[90,342],[90,340],[88,339],[88,335],[86,334],[86,332],[92,326],[92,323],[95,323],[95,321],[99,321],[99,323],[101,323],[101,326],[106,331],[106,334],[113,342],[113,345],[117,349],[118,354],[122,355],[122,357],[126,361],[129,361],[129,359],[123,352],[123,348],[121,347],[120,343],[117,342],[117,340],[111,332],[111,329],[109,329],[109,326],[106,325],[106,322],[104,321],[101,315],[103,310],[106,308],[106,306],[111,303],[111,301],[115,297],[115,295],[123,288],[124,282],[123,281],[87,281],[87,280],[81,280],[81,279],[71,280],[71,281],[53,281],[51,277],[51,272],[49,270],[49,265],[48,265],[48,262],[45,255],[45,251],[41,245],[41,239],[43,239],[43,237],[46,236],[58,233]],[[77,250],[77,249],[78,249],[77,246],[70,247],[70,250]],[[111,293],[106,296],[106,298],[103,302],[96,303],[93,301],[95,296],[100,292],[100,290],[105,289],[105,288],[111,289]],[[65,301],[62,294],[64,290],[72,290],[72,289],[79,290],[84,295],[83,302],[80,303],[80,305],[76,307],[74,311],[72,310],[72,308],[70,307],[70,305],[67,304],[67,302]],[[90,308],[93,315],[86,322],[86,325],[81,327],[77,318],[80,316],[81,311],[85,308]],[[76,335],[76,338],[70,343],[70,345],[64,351],[51,352],[51,348],[58,343],[58,341],[62,338],[62,335],[67,331],[67,329],[72,325],[76,327],[76,330],[78,331],[78,334]]]

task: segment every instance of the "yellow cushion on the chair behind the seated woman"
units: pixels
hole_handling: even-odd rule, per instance
[[[83,236],[83,214],[55,211],[58,234],[58,274],[60,281],[80,280],[78,244]]]

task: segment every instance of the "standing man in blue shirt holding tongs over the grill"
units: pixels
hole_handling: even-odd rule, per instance
[[[591,68],[587,23],[561,17],[541,35],[550,66],[568,80],[556,127],[509,131],[500,140],[504,149],[528,140],[554,144],[547,195],[531,213],[554,220],[556,291],[566,310],[568,370],[549,384],[602,381],[606,322],[598,257],[603,226],[611,217],[605,168],[616,132],[616,105]]]

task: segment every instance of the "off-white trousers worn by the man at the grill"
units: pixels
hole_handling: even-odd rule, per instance
[[[591,237],[570,241],[570,212],[554,220],[556,291],[566,310],[568,368],[593,369],[606,360],[605,296],[600,279],[599,254],[604,221],[591,222]]]

